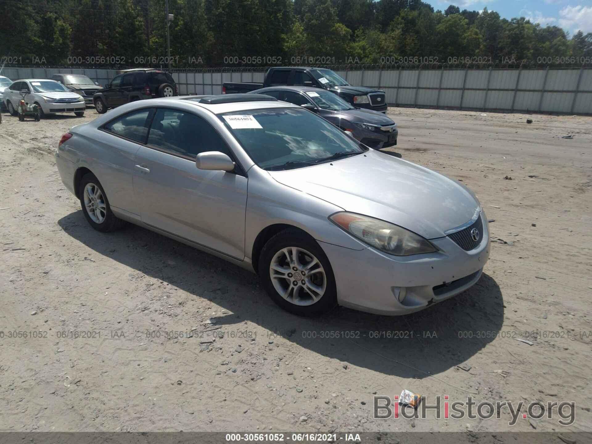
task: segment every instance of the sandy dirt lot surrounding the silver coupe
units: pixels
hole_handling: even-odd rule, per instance
[[[591,430],[592,118],[389,114],[390,151],[476,192],[494,220],[491,259],[477,285],[420,313],[308,320],[184,244],[92,230],[53,153],[94,110],[41,123],[4,113],[0,430]],[[392,331],[404,333],[376,337]],[[374,393],[404,388],[428,404],[574,401],[575,422],[512,427],[505,407],[501,420],[372,419]]]

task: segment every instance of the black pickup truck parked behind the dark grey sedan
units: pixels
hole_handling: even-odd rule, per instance
[[[263,83],[224,82],[222,94],[237,94],[255,91],[268,86],[314,86],[334,92],[357,108],[387,112],[384,91],[352,86],[336,72],[326,68],[281,66],[269,68]]]

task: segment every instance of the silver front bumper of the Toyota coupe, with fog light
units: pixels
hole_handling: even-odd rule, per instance
[[[449,237],[430,240],[440,251],[397,257],[368,247],[352,250],[319,242],[332,265],[337,302],[368,313],[396,316],[423,310],[474,285],[489,258],[484,213],[481,243],[465,251]],[[404,288],[400,302],[397,295]]]

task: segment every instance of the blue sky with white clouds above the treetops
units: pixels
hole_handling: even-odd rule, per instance
[[[427,0],[427,3],[442,11],[450,4],[458,6],[461,11],[481,11],[487,7],[508,20],[526,17],[541,26],[559,26],[571,36],[578,30],[584,34],[592,33],[592,0]]]

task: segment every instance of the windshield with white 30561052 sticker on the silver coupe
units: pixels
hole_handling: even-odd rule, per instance
[[[260,168],[302,168],[365,152],[361,144],[301,108],[228,112],[218,116]]]

